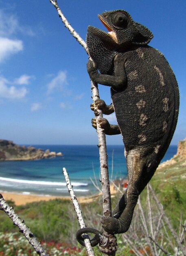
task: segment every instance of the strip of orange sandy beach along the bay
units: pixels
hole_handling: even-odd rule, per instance
[[[71,200],[70,196],[60,197],[60,196],[44,196],[44,195],[41,195],[41,196],[40,195],[24,195],[19,193],[7,193],[3,191],[0,191],[0,193],[2,194],[4,200],[12,200],[13,202],[15,202],[15,205],[38,202],[41,200],[48,201],[56,198]],[[83,203],[83,202],[92,202],[97,197],[98,195],[92,195],[88,197],[77,197],[77,198],[80,203]]]

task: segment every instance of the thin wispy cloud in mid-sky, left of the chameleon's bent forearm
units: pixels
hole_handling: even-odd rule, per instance
[[[64,85],[67,84],[66,71],[59,71],[57,76],[52,79],[50,83],[47,85],[47,94],[53,93],[55,90],[61,90],[62,92],[68,92]]]

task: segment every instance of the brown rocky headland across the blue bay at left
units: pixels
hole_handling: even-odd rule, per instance
[[[35,148],[33,146],[19,146],[11,140],[0,139],[0,160],[35,160],[62,155],[61,152],[50,152],[49,149],[44,151],[41,148]]]

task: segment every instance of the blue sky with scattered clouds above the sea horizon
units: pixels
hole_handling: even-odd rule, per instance
[[[85,40],[88,25],[104,29],[97,14],[124,9],[154,35],[152,47],[170,63],[180,90],[172,140],[186,137],[186,0],[58,0]],[[88,56],[47,1],[0,0],[0,138],[18,144],[97,144],[91,126]],[[111,103],[109,88],[100,97]],[[114,116],[109,117],[114,123]],[[120,135],[107,144],[123,144]]]

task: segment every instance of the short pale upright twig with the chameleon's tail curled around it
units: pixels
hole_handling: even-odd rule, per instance
[[[72,185],[71,185],[71,182],[70,182],[70,178],[68,176],[66,168],[63,168],[63,174],[65,176],[66,186],[68,188],[68,192],[69,192],[69,194],[71,196],[71,199],[72,199],[72,202],[74,204],[74,210],[76,211],[77,219],[79,221],[79,225],[80,225],[80,227],[82,229],[83,227],[86,227],[86,225],[85,225],[85,222],[83,220],[82,212],[81,212],[81,209],[79,207],[79,203],[78,203],[77,197],[76,197],[76,195],[74,193],[74,190],[72,188]],[[89,236],[84,234],[83,238],[84,238],[84,241],[85,241],[85,246],[86,246],[88,255],[89,256],[94,256],[94,251],[93,251],[92,246],[90,244]]]

